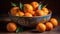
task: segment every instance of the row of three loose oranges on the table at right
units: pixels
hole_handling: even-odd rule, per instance
[[[46,23],[41,23],[39,22],[36,26],[36,30],[39,32],[44,32],[44,31],[50,31],[53,30],[53,28],[57,27],[58,21],[55,18],[51,18],[50,21]]]

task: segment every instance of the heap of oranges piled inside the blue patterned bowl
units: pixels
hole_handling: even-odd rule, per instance
[[[46,7],[42,7],[38,9],[40,4],[38,2],[31,2],[30,4],[23,5],[23,11],[19,9],[19,7],[15,6],[11,8],[10,14],[12,16],[25,16],[25,17],[33,17],[33,16],[45,16],[48,15],[49,11]]]

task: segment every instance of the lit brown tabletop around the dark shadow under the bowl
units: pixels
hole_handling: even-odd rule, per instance
[[[23,32],[19,32],[18,34],[60,34],[60,18],[59,17],[55,17],[57,18],[59,24],[52,31],[45,31],[43,33],[40,33],[35,29],[28,29],[28,30],[26,29]],[[0,34],[17,34],[15,32],[9,33],[8,31],[6,31],[5,27],[9,21],[10,21],[9,17],[0,17]]]

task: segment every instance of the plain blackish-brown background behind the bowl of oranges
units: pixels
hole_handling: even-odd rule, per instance
[[[10,2],[23,2],[30,3],[32,1],[44,1],[44,0],[0,0],[0,15],[8,14],[8,11],[11,8]],[[60,0],[45,0],[45,3],[48,3],[47,8],[51,9],[53,15],[60,14]]]

